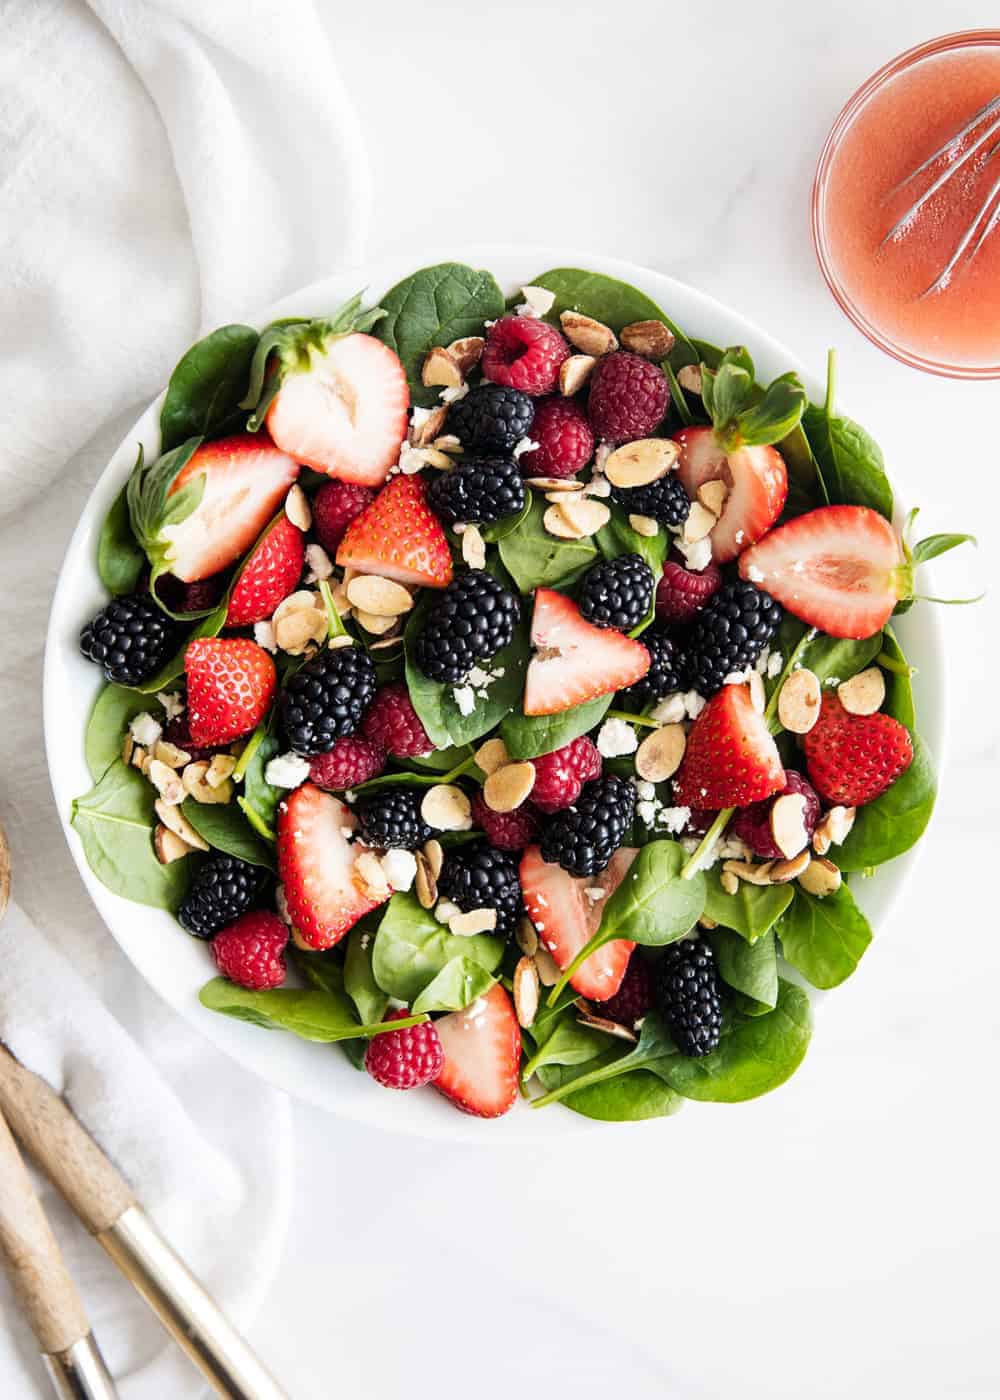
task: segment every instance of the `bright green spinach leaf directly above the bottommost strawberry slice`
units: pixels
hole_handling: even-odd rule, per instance
[[[412,1007],[422,994],[426,994],[434,979],[452,960],[461,965],[457,973],[452,972],[440,984],[440,990],[450,991],[454,1000],[455,987],[461,988],[461,977],[468,972],[473,980],[478,973],[492,974],[500,966],[504,942],[492,934],[475,934],[472,938],[455,938],[448,932],[445,924],[438,924],[434,914],[420,909],[413,895],[394,895],[389,900],[385,917],[375,935],[371,951],[371,970],[375,981],[388,993]],[[451,983],[450,979],[458,980]],[[489,977],[492,984],[493,977]],[[471,1000],[480,995],[482,987],[473,991]],[[458,1009],[455,1007],[431,1008],[427,1007],[424,995],[424,1009]]]

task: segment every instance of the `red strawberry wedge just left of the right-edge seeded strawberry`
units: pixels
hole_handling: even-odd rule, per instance
[[[678,806],[746,806],[784,787],[784,767],[749,686],[723,686],[688,735],[674,780]]]

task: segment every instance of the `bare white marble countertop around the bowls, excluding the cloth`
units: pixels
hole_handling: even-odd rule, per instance
[[[818,371],[836,344],[840,399],[926,531],[979,532],[937,574],[975,592],[1000,547],[1000,385],[919,375],[852,329],[808,192],[870,71],[985,18],[969,0],[331,6],[371,255],[564,241],[696,283]],[[950,610],[923,860],[779,1093],[543,1156],[296,1109],[294,1224],[254,1340],[297,1400],[500,1400],[549,1373],[576,1400],[997,1393],[997,620],[996,596]]]

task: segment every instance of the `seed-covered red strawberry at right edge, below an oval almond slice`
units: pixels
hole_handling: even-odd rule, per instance
[[[832,690],[803,748],[817,792],[839,806],[873,802],[913,762],[905,725],[888,714],[849,714]]]

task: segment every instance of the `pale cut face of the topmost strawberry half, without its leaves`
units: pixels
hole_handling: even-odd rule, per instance
[[[406,437],[410,392],[399,356],[366,335],[331,335],[286,367],[268,430],[293,456],[342,482],[378,486]]]

